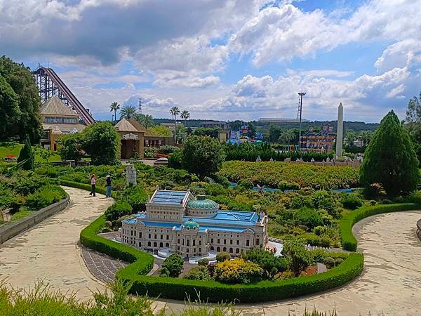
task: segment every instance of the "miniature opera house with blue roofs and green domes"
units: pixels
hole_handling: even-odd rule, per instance
[[[218,203],[187,191],[156,190],[146,211],[123,220],[121,242],[136,248],[177,253],[183,257],[207,256],[266,246],[264,213],[222,211]]]

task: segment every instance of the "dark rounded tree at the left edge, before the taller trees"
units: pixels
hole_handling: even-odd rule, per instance
[[[9,136],[9,131],[20,119],[19,96],[0,74],[0,133],[2,138]],[[6,137],[5,137],[6,138]]]

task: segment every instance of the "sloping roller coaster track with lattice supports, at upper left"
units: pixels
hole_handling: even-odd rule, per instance
[[[91,113],[83,107],[76,96],[74,96],[72,91],[67,88],[65,83],[62,79],[60,79],[60,77],[58,77],[58,74],[56,74],[53,69],[39,67],[37,70],[32,72],[32,74],[34,74],[36,86],[38,87],[42,103],[46,102],[46,100],[52,96],[57,96],[66,105],[72,107],[86,125],[95,123],[95,119],[92,117]]]

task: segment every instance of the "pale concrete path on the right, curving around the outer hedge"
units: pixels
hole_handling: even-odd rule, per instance
[[[244,315],[302,315],[314,306],[328,312],[336,306],[338,316],[421,315],[421,242],[415,223],[421,211],[386,213],[354,225],[359,251],[365,255],[360,279],[346,287],[292,300],[237,305]],[[179,301],[158,301],[170,310],[182,310]]]

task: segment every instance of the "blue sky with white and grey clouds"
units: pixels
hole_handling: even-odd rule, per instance
[[[0,0],[0,54],[52,67],[96,119],[405,118],[421,0]]]

